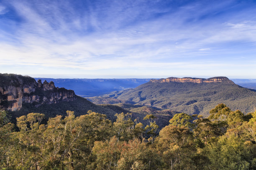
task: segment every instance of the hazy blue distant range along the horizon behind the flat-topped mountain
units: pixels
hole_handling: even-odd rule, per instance
[[[54,78],[35,78],[35,80],[53,81],[56,87],[64,87],[74,90],[81,97],[94,97],[108,94],[113,91],[135,88],[151,79],[54,79]],[[256,90],[256,79],[230,79],[237,85]]]

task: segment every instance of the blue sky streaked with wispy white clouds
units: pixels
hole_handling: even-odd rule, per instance
[[[256,78],[256,1],[0,0],[0,73]]]

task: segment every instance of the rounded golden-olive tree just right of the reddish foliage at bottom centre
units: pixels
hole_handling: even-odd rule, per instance
[[[197,159],[202,155],[196,153],[193,135],[188,128],[168,125],[156,138],[156,148],[161,153],[164,169],[193,170],[197,169]],[[202,161],[206,164],[207,159]]]

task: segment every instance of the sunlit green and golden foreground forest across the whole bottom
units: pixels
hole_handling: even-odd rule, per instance
[[[3,170],[256,170],[256,111],[244,115],[224,104],[201,115],[178,113],[159,129],[130,113],[49,118],[29,113],[10,123],[0,111]]]

